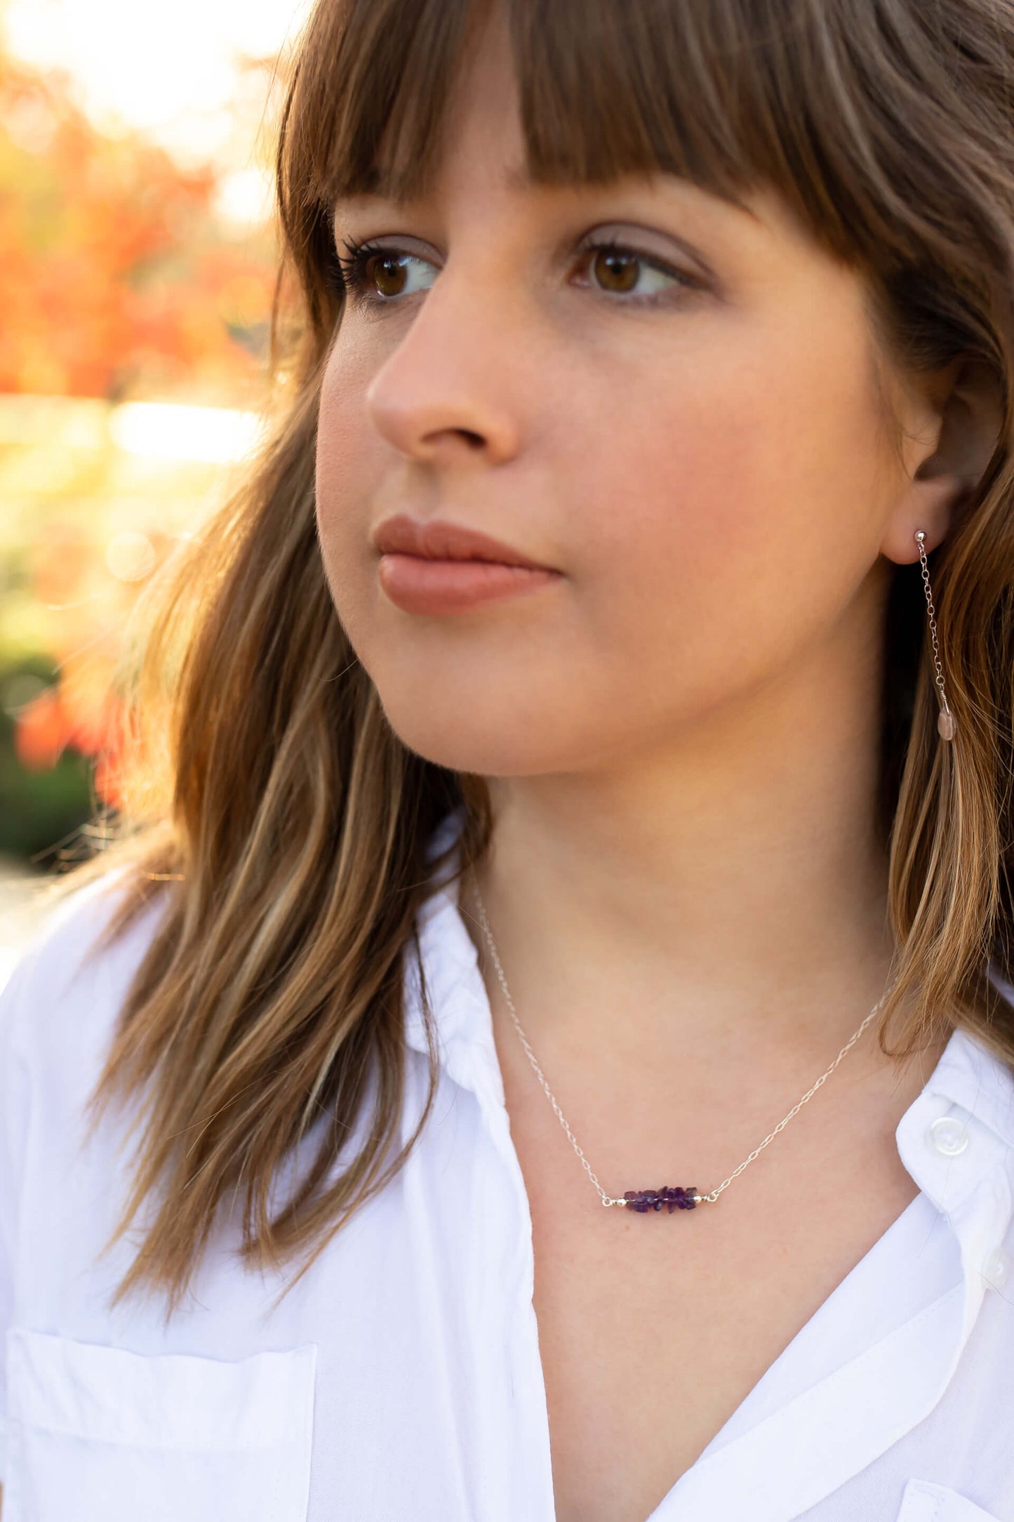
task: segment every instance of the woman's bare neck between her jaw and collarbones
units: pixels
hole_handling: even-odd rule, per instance
[[[490,779],[476,881],[537,1052],[616,1053],[622,1026],[634,1065],[833,1058],[894,954],[879,705],[841,677],[815,662],[622,763]],[[505,1011],[470,884],[462,909]]]

